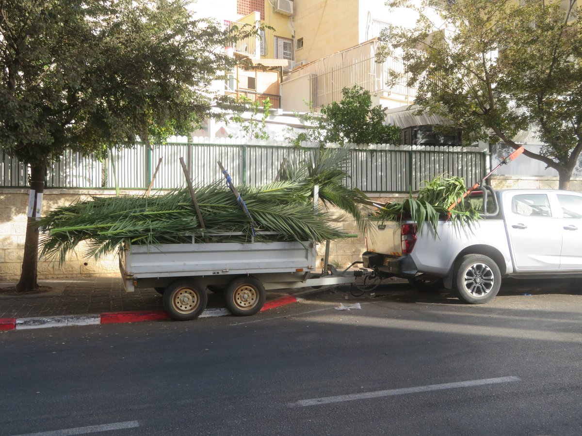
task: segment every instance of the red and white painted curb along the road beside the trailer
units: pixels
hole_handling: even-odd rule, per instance
[[[268,301],[262,306],[261,312],[280,308],[291,303],[302,301],[296,296],[283,296]],[[230,315],[226,308],[206,309],[199,318]],[[62,315],[38,316],[30,318],[0,318],[0,330],[27,330],[31,328],[90,326],[93,324],[137,323],[139,321],[169,320],[170,316],[163,310],[127,310],[126,312],[105,312],[100,315]]]

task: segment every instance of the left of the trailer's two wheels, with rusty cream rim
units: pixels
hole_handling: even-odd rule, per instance
[[[196,319],[206,308],[208,296],[196,281],[180,280],[164,291],[162,302],[168,315],[178,321]]]

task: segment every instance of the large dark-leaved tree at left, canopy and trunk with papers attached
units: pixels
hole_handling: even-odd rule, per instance
[[[256,29],[194,20],[183,0],[4,0],[0,3],[0,147],[30,165],[17,290],[37,287],[47,165],[67,149],[104,155],[193,130],[211,81],[235,62],[223,47]]]

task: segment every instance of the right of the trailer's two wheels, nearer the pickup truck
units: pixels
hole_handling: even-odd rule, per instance
[[[236,316],[250,316],[261,310],[267,292],[260,280],[239,277],[231,281],[225,290],[226,307]]]

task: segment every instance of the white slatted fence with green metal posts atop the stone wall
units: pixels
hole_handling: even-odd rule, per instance
[[[218,161],[235,184],[260,185],[274,181],[283,159],[303,158],[314,148],[284,145],[171,143],[134,149],[112,149],[107,158],[66,152],[45,177],[47,188],[169,189],[183,185],[180,158],[184,158],[194,183],[221,180]],[[26,187],[30,170],[0,151],[0,187]],[[464,177],[473,185],[487,172],[487,153],[445,147],[377,146],[352,148],[346,185],[364,192],[416,191],[424,180],[446,173]]]

